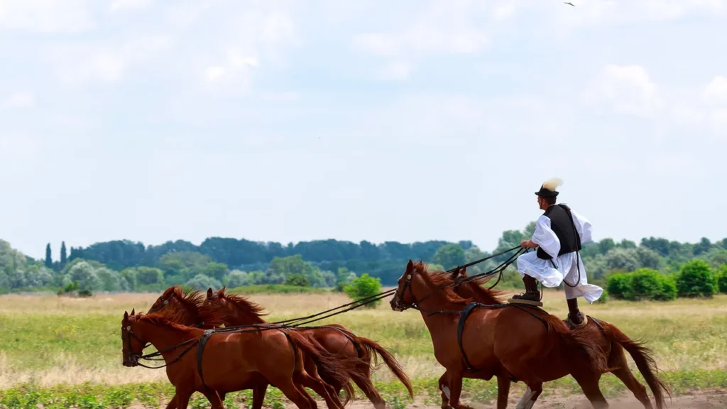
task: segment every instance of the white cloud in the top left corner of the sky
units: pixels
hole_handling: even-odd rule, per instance
[[[77,33],[95,28],[87,0],[0,0],[0,28]]]

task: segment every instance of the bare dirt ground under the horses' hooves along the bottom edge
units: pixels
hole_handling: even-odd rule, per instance
[[[518,404],[520,396],[510,396],[510,404],[508,408],[515,408]],[[478,404],[477,402],[466,402],[474,409],[495,408],[495,403],[491,402],[487,405]],[[633,396],[624,395],[622,397],[611,398],[608,400],[611,409],[643,409],[638,400]],[[286,405],[286,409],[294,409],[292,404]],[[325,402],[318,402],[318,408],[326,408]],[[346,406],[346,409],[373,409],[371,402],[357,400]],[[389,409],[392,407],[389,405]],[[421,402],[414,402],[406,405],[407,409],[441,409],[438,405],[424,405]],[[534,405],[533,409],[592,409],[593,406],[584,396],[547,396],[542,397]],[[672,397],[670,401],[667,398],[667,408],[669,409],[724,409],[727,408],[727,391],[711,391],[711,392],[695,392],[694,394]],[[145,409],[141,405],[132,406],[129,409]]]

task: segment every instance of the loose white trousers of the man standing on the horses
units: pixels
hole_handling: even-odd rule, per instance
[[[563,288],[566,291],[566,299],[568,300],[583,297],[589,303],[593,303],[598,298],[601,298],[603,288],[598,287],[598,285],[588,284],[583,260],[578,257],[578,263],[576,263],[575,252],[560,255],[553,262],[555,263],[555,268],[550,263],[550,260],[538,258],[537,252],[531,251],[525,253],[518,257],[520,277],[525,277],[527,274],[537,279],[545,287],[558,287],[565,279],[566,283],[563,285]],[[563,275],[563,271],[565,271],[565,275]],[[575,287],[571,287],[571,285]]]

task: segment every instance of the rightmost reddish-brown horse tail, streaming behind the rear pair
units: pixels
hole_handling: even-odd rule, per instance
[[[611,325],[603,321],[599,322],[601,322],[601,325],[603,326],[606,338],[613,343],[621,345],[631,355],[631,358],[636,363],[636,368],[638,368],[641,376],[643,376],[646,384],[648,384],[648,387],[651,389],[651,393],[654,394],[656,408],[664,408],[666,403],[664,400],[664,392],[666,392],[670,398],[672,397],[672,394],[667,384],[665,384],[659,376],[656,376],[656,373],[659,372],[659,368],[656,368],[656,360],[654,360],[654,357],[651,354],[651,349],[644,346],[646,341],[634,341],[619,330],[615,325]]]

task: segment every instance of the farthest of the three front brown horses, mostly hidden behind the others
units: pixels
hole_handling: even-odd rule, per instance
[[[262,314],[262,306],[249,301],[242,295],[225,293],[225,287],[222,287],[217,292],[213,292],[209,288],[207,290],[207,301],[217,303],[217,305],[228,310],[228,314],[225,314],[225,325],[262,325],[266,323],[265,319],[262,318],[265,315]],[[406,376],[406,373],[404,373],[401,365],[398,364],[393,355],[376,341],[354,335],[346,327],[338,324],[329,324],[320,327],[300,327],[296,328],[296,330],[300,330],[302,333],[318,341],[331,354],[342,358],[361,358],[362,363],[359,365],[359,371],[351,373],[350,379],[366,394],[366,397],[371,400],[375,408],[382,409],[386,407],[385,400],[379,395],[379,392],[374,388],[374,384],[371,381],[371,360],[373,359],[374,365],[377,365],[377,354],[382,357],[382,360],[399,381],[406,386],[409,396],[414,399],[414,392],[411,389],[409,377]],[[340,393],[341,389],[348,384],[348,379],[346,379],[345,384],[341,384],[336,379],[328,376],[324,370],[320,371],[320,375],[326,383],[334,387],[337,393]],[[348,402],[348,393],[345,402]]]

